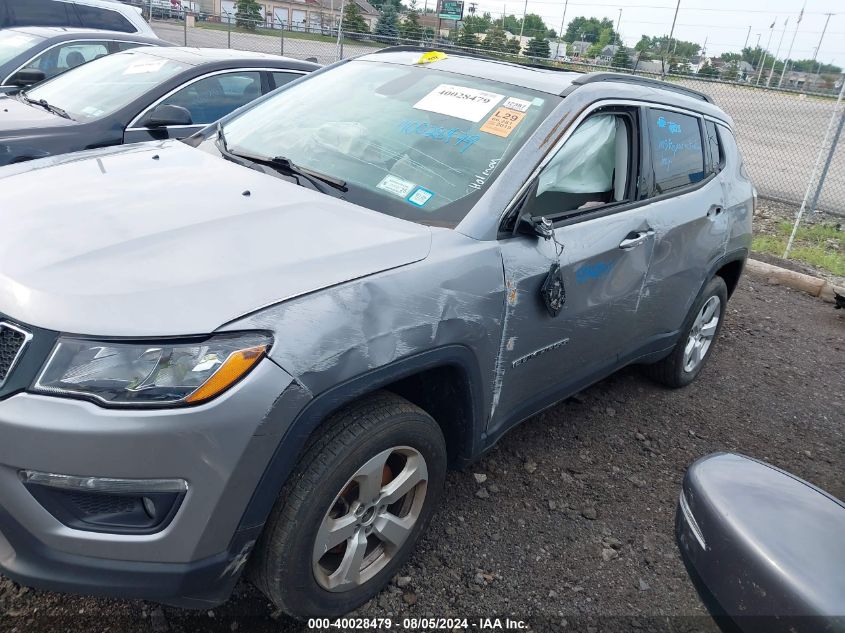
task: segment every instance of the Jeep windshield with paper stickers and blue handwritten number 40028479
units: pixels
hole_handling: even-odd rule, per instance
[[[454,226],[559,97],[432,66],[353,61],[224,126],[233,153],[345,181],[344,198]]]

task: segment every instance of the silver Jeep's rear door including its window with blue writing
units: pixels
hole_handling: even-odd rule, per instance
[[[654,257],[642,310],[655,345],[683,324],[714,263],[725,253],[728,219],[705,121],[699,115],[663,107],[645,110],[655,230]]]

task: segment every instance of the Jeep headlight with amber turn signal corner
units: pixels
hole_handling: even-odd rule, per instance
[[[271,343],[269,335],[253,332],[187,343],[62,337],[33,389],[116,406],[198,404],[243,378]]]

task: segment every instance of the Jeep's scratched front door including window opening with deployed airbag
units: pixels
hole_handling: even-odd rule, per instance
[[[648,207],[637,204],[639,146],[636,108],[585,119],[523,207],[554,220],[554,239],[502,240],[507,296],[491,432],[609,373],[620,346],[641,335],[655,235]],[[553,315],[542,290],[558,261],[565,300]]]

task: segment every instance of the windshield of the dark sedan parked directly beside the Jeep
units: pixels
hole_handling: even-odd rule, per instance
[[[132,50],[78,66],[26,94],[85,121],[119,110],[186,68],[187,64]]]

